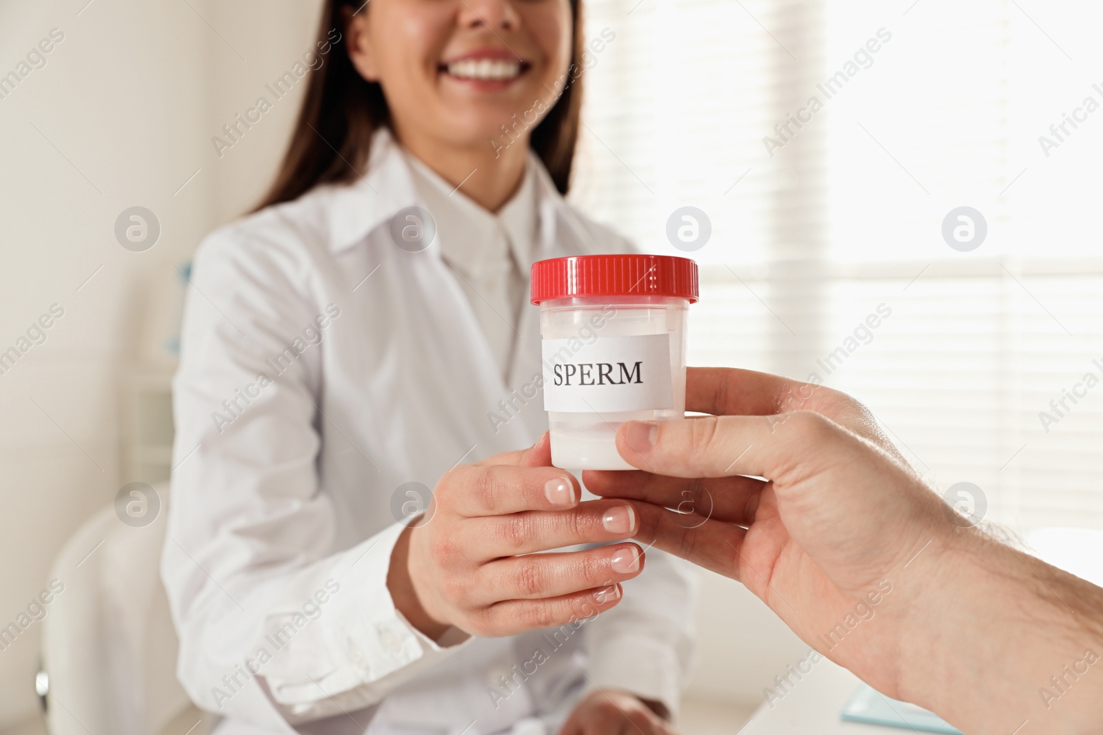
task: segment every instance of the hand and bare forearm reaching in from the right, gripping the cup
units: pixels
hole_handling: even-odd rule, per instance
[[[638,540],[739,580],[966,733],[1103,732],[1103,670],[1082,671],[1103,658],[1103,590],[953,522],[843,393],[745,370],[688,381],[687,409],[716,415],[625,423],[618,450],[647,472],[583,475],[633,501]]]

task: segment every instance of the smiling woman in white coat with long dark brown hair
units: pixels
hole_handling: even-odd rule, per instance
[[[222,735],[667,733],[692,572],[550,466],[526,298],[535,260],[629,249],[563,199],[581,8],[323,12],[271,193],[195,256],[180,679]]]

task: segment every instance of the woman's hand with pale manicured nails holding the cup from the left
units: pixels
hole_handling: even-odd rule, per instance
[[[643,569],[635,543],[537,553],[638,530],[631,505],[580,504],[578,480],[550,458],[545,434],[528,450],[441,477],[428,521],[407,528],[392,553],[387,586],[415,627],[431,638],[452,626],[511,636],[592,617],[620,601],[619,583]]]

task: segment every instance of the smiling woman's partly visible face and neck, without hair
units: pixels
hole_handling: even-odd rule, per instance
[[[578,65],[571,0],[374,0],[370,6],[346,19],[349,54],[360,75],[379,85],[396,138],[453,184],[479,169],[463,191],[496,208],[515,188],[527,148],[505,153],[511,161],[502,165],[503,128],[536,107],[540,112],[529,114],[525,129],[538,126],[563,95],[571,65]],[[504,140],[518,134],[513,130]],[[500,183],[484,179],[491,162]],[[484,186],[490,188],[480,193]]]

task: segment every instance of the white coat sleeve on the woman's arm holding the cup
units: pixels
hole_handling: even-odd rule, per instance
[[[313,272],[306,251],[242,233],[200,248],[161,561],[189,695],[283,732],[378,703],[459,648],[437,646],[393,604],[400,526],[333,549],[317,407],[321,343],[340,305],[312,293]],[[371,484],[365,476],[365,491]]]

